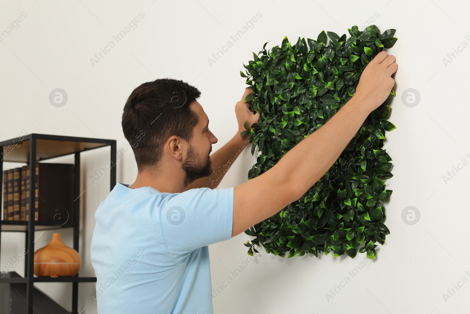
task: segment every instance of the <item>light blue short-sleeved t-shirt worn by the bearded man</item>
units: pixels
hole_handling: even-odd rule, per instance
[[[208,245],[230,239],[233,195],[118,183],[94,215],[98,314],[212,314]]]

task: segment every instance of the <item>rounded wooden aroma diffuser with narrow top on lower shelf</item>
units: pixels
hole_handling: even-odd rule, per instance
[[[38,277],[75,276],[81,266],[80,255],[62,242],[60,233],[53,233],[49,244],[34,252],[34,274]]]

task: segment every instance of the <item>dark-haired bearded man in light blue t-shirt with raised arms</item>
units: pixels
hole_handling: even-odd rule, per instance
[[[199,90],[170,79],[134,89],[122,127],[137,178],[132,185],[118,183],[95,213],[91,259],[98,313],[213,313],[208,245],[297,201],[389,96],[397,68],[394,56],[377,54],[355,95],[327,123],[265,173],[226,189],[215,189],[226,171],[214,176],[213,170],[227,169],[248,145],[249,135],[240,137],[243,124],[259,118],[243,103],[251,89],[235,105],[237,133],[212,155],[217,138],[196,101]]]

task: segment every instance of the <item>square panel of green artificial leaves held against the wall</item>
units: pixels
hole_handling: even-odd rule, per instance
[[[354,95],[367,64],[397,41],[394,29],[381,33],[376,25],[348,31],[349,38],[323,31],[317,40],[299,37],[295,45],[285,37],[271,52],[266,42],[243,64],[246,75],[240,75],[253,89],[245,101],[251,100],[251,110],[260,113],[251,126],[255,129],[246,122],[241,133],[251,134],[251,154],[257,145],[260,151],[248,179],[266,172],[325,124]],[[385,132],[395,129],[386,120],[389,109],[385,102],[368,115],[337,161],[298,201],[245,230],[255,237],[245,244],[249,255],[258,252],[254,245],[262,245],[267,253],[289,253],[289,258],[318,257],[321,251],[354,258],[358,249],[375,258],[374,243],[383,245],[390,234],[383,223],[383,202],[392,194],[384,187],[392,177],[392,158],[382,149]]]

